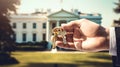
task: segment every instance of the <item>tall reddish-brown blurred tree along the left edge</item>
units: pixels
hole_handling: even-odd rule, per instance
[[[11,37],[14,31],[10,25],[9,15],[11,12],[16,13],[18,5],[20,0],[0,0],[0,51],[5,51],[5,47],[10,47],[14,43]]]

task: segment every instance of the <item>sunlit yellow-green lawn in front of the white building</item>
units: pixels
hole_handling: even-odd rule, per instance
[[[13,52],[19,63],[0,67],[112,67],[108,52]]]

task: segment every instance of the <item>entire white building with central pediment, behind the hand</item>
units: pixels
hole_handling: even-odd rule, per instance
[[[82,18],[101,24],[100,14],[74,13],[61,9],[51,14],[18,14],[11,15],[11,26],[15,32],[16,42],[50,41],[52,29],[62,23]]]

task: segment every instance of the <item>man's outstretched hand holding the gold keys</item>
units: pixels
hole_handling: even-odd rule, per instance
[[[109,48],[109,29],[87,19],[71,21],[61,26],[66,31],[67,44],[58,37],[56,44],[65,49],[101,51]]]

